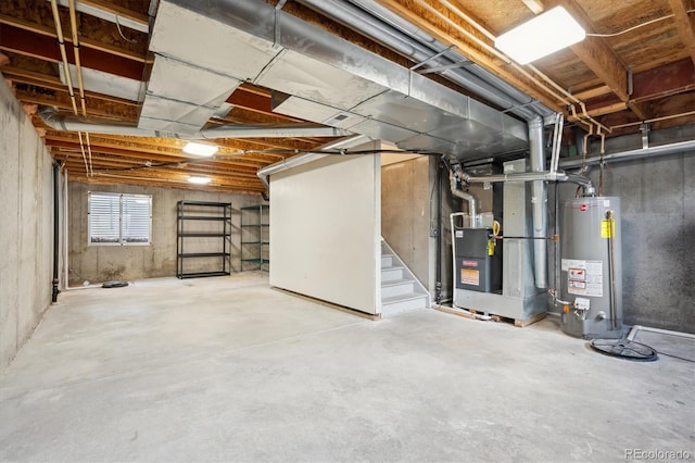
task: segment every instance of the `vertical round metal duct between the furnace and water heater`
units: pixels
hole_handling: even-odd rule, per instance
[[[543,120],[536,117],[529,121],[529,161],[532,172],[545,171],[545,153],[543,152]],[[547,236],[547,191],[545,182],[534,180],[531,184],[531,208],[533,210],[533,274],[536,288],[547,288],[547,250],[542,239]]]

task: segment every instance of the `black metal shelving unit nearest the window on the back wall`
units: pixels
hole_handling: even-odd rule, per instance
[[[179,201],[176,205],[176,276],[195,278],[231,272],[231,203]],[[185,263],[208,261],[210,270],[187,272]]]

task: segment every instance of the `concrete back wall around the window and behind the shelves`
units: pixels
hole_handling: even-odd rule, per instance
[[[87,199],[89,191],[118,192],[130,195],[152,195],[152,245],[151,246],[89,246]],[[231,271],[241,271],[241,211],[240,208],[263,203],[260,196],[230,195],[184,190],[176,188],[156,188],[138,186],[109,186],[68,183],[68,267],[71,286],[79,286],[84,280],[101,283],[108,280],[134,280],[176,275],[176,203],[180,200],[230,202],[231,213]],[[206,226],[197,223],[195,226]],[[217,226],[210,224],[208,226]],[[203,228],[197,228],[204,230]],[[216,238],[215,238],[216,239]],[[202,238],[187,241],[197,247],[187,248],[187,252],[204,252]],[[208,241],[210,242],[210,241]],[[213,246],[214,248],[214,246]],[[216,250],[211,250],[214,252]],[[207,258],[205,258],[207,259]],[[211,268],[210,260],[191,260],[186,263],[185,272]],[[214,265],[213,265],[214,266]],[[244,270],[253,270],[245,264]]]

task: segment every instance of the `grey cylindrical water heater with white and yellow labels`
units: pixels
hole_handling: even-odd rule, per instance
[[[620,198],[576,198],[563,218],[560,328],[570,336],[622,337]]]

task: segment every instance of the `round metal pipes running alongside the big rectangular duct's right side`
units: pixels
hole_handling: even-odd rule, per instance
[[[534,101],[528,95],[375,2],[359,0],[298,0],[298,2],[401,55],[408,57],[417,63],[426,63],[422,67],[425,70],[440,70],[440,75],[505,111],[526,120],[553,113],[543,103]]]

